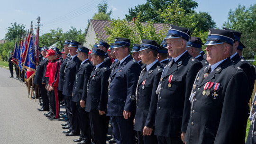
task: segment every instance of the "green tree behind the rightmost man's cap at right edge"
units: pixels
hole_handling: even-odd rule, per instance
[[[243,49],[246,59],[254,59],[256,53],[256,4],[249,8],[238,5],[234,11],[229,10],[228,21],[223,27],[234,29],[242,33],[240,41],[247,47]]]

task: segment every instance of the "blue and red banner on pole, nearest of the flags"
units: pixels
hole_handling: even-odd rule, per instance
[[[23,67],[27,69],[27,80],[35,75],[36,72],[36,60],[34,54],[33,36],[31,36],[28,43],[27,56],[25,58]]]

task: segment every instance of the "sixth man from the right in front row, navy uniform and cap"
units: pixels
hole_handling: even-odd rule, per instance
[[[77,53],[79,60],[82,61],[78,72],[75,77],[73,86],[72,101],[76,103],[76,111],[72,109],[73,115],[76,115],[78,119],[81,136],[74,142],[78,144],[90,144],[91,143],[91,128],[89,113],[84,110],[85,101],[87,97],[87,83],[91,75],[93,66],[88,59],[89,49],[82,45],[78,45]]]

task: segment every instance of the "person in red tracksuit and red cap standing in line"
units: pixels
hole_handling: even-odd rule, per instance
[[[61,62],[59,58],[55,55],[55,51],[50,50],[46,57],[51,61],[49,62],[49,84],[47,90],[50,91],[50,105],[52,106],[52,117],[49,117],[49,120],[58,120],[59,119],[59,98],[58,98],[58,83],[59,83],[59,70]]]

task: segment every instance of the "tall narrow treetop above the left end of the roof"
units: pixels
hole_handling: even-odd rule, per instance
[[[110,20],[110,15],[112,14],[112,9],[107,13],[108,4],[107,1],[103,0],[98,5],[98,13],[94,13],[92,19],[100,19],[100,20]]]

